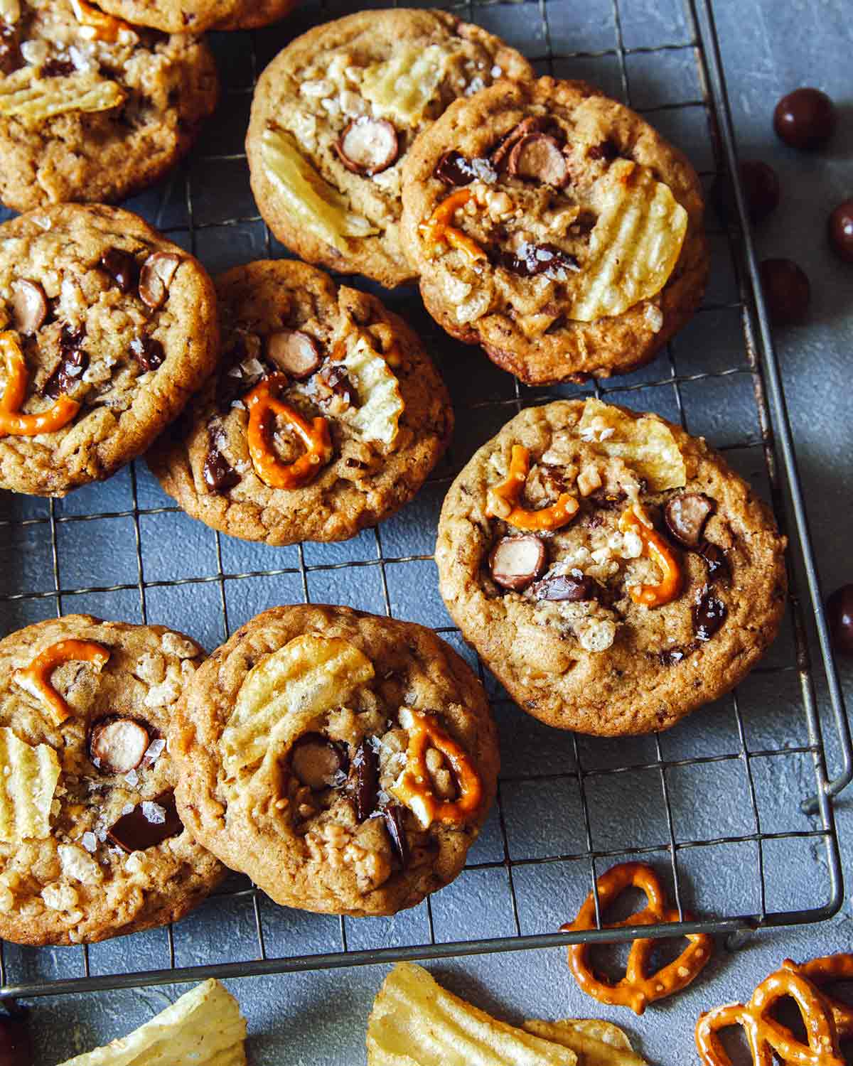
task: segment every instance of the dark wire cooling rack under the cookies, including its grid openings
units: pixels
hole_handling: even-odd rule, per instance
[[[683,7],[660,0],[654,15],[629,0],[580,7],[537,0],[454,10],[519,47],[540,72],[586,78],[649,114],[688,151],[707,188],[730,175],[735,149],[710,0]],[[190,164],[130,205],[212,271],[285,254],[248,191],[242,139],[252,87],[290,37],[348,10],[306,5],[279,28],[213,37],[225,85],[220,113]],[[0,998],[625,940],[631,931],[554,930],[596,875],[634,857],[664,875],[681,919],[688,908],[701,916],[650,926],[647,936],[736,934],[837,911],[843,886],[832,796],[853,776],[850,734],[737,183],[734,196],[737,219],[724,226],[709,217],[714,271],[694,323],[653,365],[600,387],[520,386],[437,330],[413,290],[386,294],[439,362],[457,433],[419,498],[351,542],[269,549],[221,537],[170,505],[141,463],[63,501],[0,497],[4,631],[90,611],[165,623],[212,647],[273,603],[350,603],[432,625],[466,655],[493,698],[503,754],[498,802],[466,870],[411,911],[307,915],[275,907],[234,875],[174,928],[91,947],[0,944]],[[792,580],[786,625],[763,663],[730,696],[658,737],[592,740],[524,715],[448,625],[437,594],[435,523],[453,474],[521,406],[592,392],[678,420],[725,451],[772,499],[788,527],[792,579],[805,577],[805,605]],[[818,672],[807,620],[817,626]],[[816,681],[826,685],[838,731],[834,778]]]

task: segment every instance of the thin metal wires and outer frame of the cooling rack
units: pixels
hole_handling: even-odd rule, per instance
[[[760,296],[758,281],[757,260],[750,236],[750,227],[746,222],[746,211],[744,196],[740,182],[737,178],[737,156],[733,132],[731,115],[726,95],[726,86],[723,74],[723,64],[720,52],[720,44],[714,25],[712,0],[683,0],[685,11],[689,28],[689,38],[683,42],[672,42],[654,47],[627,48],[623,39],[623,12],[629,0],[612,0],[613,22],[615,29],[616,47],[597,52],[569,52],[559,55],[551,48],[550,27],[548,21],[549,0],[533,0],[524,3],[521,6],[530,12],[535,12],[535,17],[541,19],[542,35],[545,42],[545,53],[533,59],[540,65],[551,69],[554,60],[558,59],[597,59],[601,56],[614,56],[618,63],[622,79],[623,92],[626,101],[630,103],[628,75],[626,56],[634,53],[661,53],[665,51],[692,51],[699,71],[699,81],[703,88],[703,98],[698,100],[688,100],[678,103],[664,104],[658,109],[647,110],[672,110],[685,107],[704,107],[708,119],[709,134],[711,136],[715,173],[722,180],[729,180],[734,190],[734,201],[737,209],[737,217],[731,219],[727,226],[727,238],[729,252],[735,263],[735,271],[739,282],[739,300],[734,305],[741,314],[743,341],[746,352],[745,367],[731,367],[712,372],[701,372],[691,375],[677,373],[675,359],[672,351],[669,352],[669,373],[660,379],[651,382],[644,381],[641,384],[619,384],[618,379],[607,382],[603,386],[594,385],[592,390],[596,395],[609,395],[610,393],[628,393],[639,389],[650,389],[666,386],[674,389],[679,414],[683,421],[683,407],[681,404],[680,387],[686,383],[692,383],[711,377],[726,377],[729,374],[745,373],[751,375],[754,390],[760,436],[739,442],[737,447],[750,447],[760,450],[767,467],[773,503],[776,516],[783,529],[788,526],[791,538],[791,555],[796,558],[806,583],[806,605],[801,604],[796,589],[795,575],[790,574],[790,607],[793,621],[793,636],[795,643],[795,665],[789,667],[790,672],[795,672],[799,679],[800,695],[802,699],[803,714],[807,727],[807,743],[792,745],[784,749],[756,749],[749,745],[744,722],[737,702],[737,694],[734,697],[734,710],[737,721],[737,736],[739,750],[729,754],[697,755],[681,759],[665,759],[661,748],[660,738],[655,738],[655,758],[642,763],[631,765],[617,765],[610,768],[584,769],[581,762],[581,755],[577,738],[573,738],[574,769],[566,773],[567,777],[577,779],[581,810],[583,819],[583,829],[585,834],[586,847],[578,854],[554,855],[541,858],[513,859],[510,855],[508,844],[506,820],[504,817],[504,788],[508,778],[501,778],[498,792],[498,814],[500,823],[500,834],[502,838],[503,858],[501,861],[470,863],[467,869],[489,869],[502,868],[505,871],[508,889],[512,901],[512,914],[516,935],[504,937],[492,937],[485,939],[457,940],[453,942],[436,942],[433,924],[433,912],[430,901],[426,903],[426,914],[430,930],[430,942],[397,948],[380,948],[370,950],[351,951],[347,947],[347,927],[344,920],[340,920],[341,950],[320,954],[294,955],[290,957],[268,957],[264,946],[263,926],[258,903],[258,890],[254,887],[239,889],[229,893],[231,897],[248,897],[252,900],[255,918],[255,931],[257,934],[258,957],[254,960],[214,963],[209,965],[176,967],[175,965],[175,942],[173,931],[170,926],[167,935],[168,965],[160,969],[139,970],[127,973],[96,974],[90,972],[88,950],[81,947],[83,975],[79,978],[63,978],[60,980],[38,980],[38,981],[10,981],[7,963],[0,942],[0,1000],[21,997],[50,996],[61,992],[85,992],[116,988],[142,987],[146,985],[173,984],[189,981],[199,981],[206,978],[236,978],[259,975],[264,973],[285,973],[317,969],[335,969],[350,966],[364,966],[384,963],[395,963],[412,959],[437,959],[462,955],[477,955],[495,952],[522,951],[538,948],[553,948],[569,943],[586,942],[623,942],[631,939],[635,931],[631,928],[602,928],[601,915],[598,906],[597,891],[595,887],[596,876],[602,872],[605,860],[612,860],[626,854],[624,847],[597,849],[593,844],[593,827],[590,815],[590,804],[585,796],[589,784],[597,776],[608,774],[622,774],[627,772],[648,771],[657,772],[660,778],[662,791],[662,802],[666,814],[666,836],[654,845],[633,847],[633,855],[658,855],[661,852],[669,857],[670,873],[675,889],[675,905],[678,909],[679,918],[677,923],[656,924],[644,927],[643,935],[651,938],[662,938],[672,936],[683,936],[689,933],[711,933],[730,935],[733,938],[744,931],[760,927],[792,925],[804,922],[817,922],[831,918],[837,912],[843,902],[843,879],[838,847],[838,838],[833,815],[833,797],[837,795],[853,779],[853,754],[851,752],[851,734],[846,716],[843,699],[840,684],[833,662],[830,647],[828,634],[822,613],[822,600],[820,585],[812,556],[808,522],[806,518],[802,490],[796,468],[796,458],[793,450],[790,423],[788,420],[785,395],[782,388],[779,367],[776,359],[773,341],[771,337],[770,323],[767,310]],[[469,2],[456,9],[469,19],[477,20],[478,9],[492,6],[494,0],[469,0]],[[257,74],[257,60],[253,47],[253,70]],[[253,80],[254,80],[253,76]],[[654,120],[654,119],[653,119]],[[212,157],[212,160],[235,160],[240,156]],[[710,177],[711,175],[705,175]],[[727,176],[727,177],[726,177]],[[189,228],[190,241],[195,247],[197,232],[205,227],[229,226],[241,223],[254,223],[259,220],[228,219],[218,223],[196,224],[194,221],[194,204],[191,193],[191,178],[189,173],[186,177],[186,209],[188,225],[180,227]],[[156,220],[159,221],[159,220]],[[168,231],[166,229],[166,231]],[[265,230],[267,249],[271,247],[269,230]],[[437,336],[437,335],[436,335]],[[665,359],[659,360],[660,365],[665,365]],[[530,390],[522,390],[518,383],[515,383],[515,394],[508,400],[484,401],[481,404],[472,405],[469,410],[477,410],[488,406],[506,406],[506,417],[509,418],[521,406],[529,403],[547,402],[553,399],[552,393],[536,393]],[[735,446],[733,446],[735,447]],[[303,596],[306,602],[309,599],[308,576],[315,570],[329,570],[341,567],[352,568],[357,574],[359,567],[377,567],[385,610],[391,614],[391,598],[389,595],[386,567],[411,563],[422,562],[431,559],[431,555],[406,555],[391,558],[384,553],[382,544],[382,529],[374,530],[375,537],[375,559],[345,562],[345,563],[306,563],[302,545],[297,546],[297,567],[281,567],[268,570],[248,570],[243,572],[227,572],[223,568],[223,553],[220,535],[215,534],[216,545],[216,574],[209,577],[186,578],[175,581],[148,581],[144,578],[143,553],[141,547],[140,516],[162,514],[177,511],[175,507],[140,507],[138,499],[138,485],[135,468],[131,468],[131,494],[132,508],[128,511],[115,511],[97,515],[74,515],[64,516],[57,512],[53,501],[50,501],[48,515],[46,518],[32,519],[11,519],[0,521],[0,534],[3,528],[11,526],[27,526],[39,522],[47,522],[50,530],[50,543],[52,551],[52,577],[53,589],[37,593],[17,593],[0,596],[0,601],[14,599],[54,599],[57,614],[63,613],[63,600],[73,599],[76,595],[83,593],[110,593],[123,589],[135,589],[140,598],[140,611],[143,621],[147,621],[148,612],[146,607],[146,589],[164,585],[193,584],[212,582],[219,585],[220,601],[222,608],[223,632],[229,631],[228,604],[226,601],[226,583],[240,581],[252,577],[269,577],[291,574],[299,575],[302,583]],[[449,478],[436,479],[447,483]],[[792,519],[792,526],[786,522],[786,513]],[[135,533],[135,553],[138,570],[135,577],[126,583],[110,585],[109,587],[91,588],[63,588],[61,583],[60,552],[58,548],[58,527],[66,521],[86,521],[98,518],[122,518],[129,517],[133,520]],[[790,566],[789,566],[790,569]],[[823,674],[823,682],[827,690],[827,700],[830,708],[830,720],[838,733],[838,762],[840,763],[834,777],[830,777],[825,761],[825,749],[822,734],[821,714],[816,695],[816,676],[810,662],[808,635],[808,623],[814,623],[817,630],[817,639],[820,649],[820,666]],[[450,633],[450,627],[439,629],[439,632]],[[481,676],[483,675],[482,666]],[[761,667],[759,667],[759,671]],[[784,667],[771,667],[770,671],[784,669]],[[756,786],[751,770],[752,761],[765,756],[775,755],[798,755],[804,758],[810,757],[815,774],[814,797],[803,805],[803,810],[812,815],[814,821],[809,829],[791,829],[780,833],[761,831],[758,813],[758,802],[756,796]],[[752,818],[755,830],[737,837],[721,837],[713,840],[681,840],[677,838],[673,807],[671,804],[667,788],[666,772],[680,766],[696,766],[702,764],[719,763],[727,760],[739,762],[745,771],[749,782],[749,796]],[[553,776],[553,775],[551,775]],[[767,906],[766,881],[763,868],[762,844],[768,841],[787,840],[800,838],[814,843],[820,853],[822,850],[822,861],[826,870],[827,895],[824,902],[817,903],[814,907],[806,909],[790,909],[772,911]],[[731,917],[713,918],[709,920],[687,920],[686,907],[682,904],[680,879],[679,879],[679,857],[690,849],[704,847],[719,844],[754,843],[757,854],[757,874],[760,882],[759,907],[752,914],[742,914]],[[589,863],[590,889],[595,895],[596,903],[596,924],[598,928],[582,933],[553,933],[522,935],[519,922],[518,895],[514,885],[514,871],[524,866],[547,863],[551,861],[579,860]],[[601,863],[600,866],[597,863]],[[609,863],[608,863],[609,865]],[[578,901],[580,902],[580,901]],[[734,942],[734,940],[733,940]]]

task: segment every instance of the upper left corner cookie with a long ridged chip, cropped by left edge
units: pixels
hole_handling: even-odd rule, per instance
[[[157,181],[216,103],[198,37],[163,37],[86,0],[0,3],[0,199],[113,203]]]

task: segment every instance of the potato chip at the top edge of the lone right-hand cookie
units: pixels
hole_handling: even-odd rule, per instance
[[[687,484],[687,467],[672,430],[654,416],[631,418],[618,407],[590,399],[576,433],[606,455],[624,459],[646,479],[653,492]]]

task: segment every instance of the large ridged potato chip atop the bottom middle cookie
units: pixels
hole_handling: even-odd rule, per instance
[[[373,677],[373,665],[340,636],[303,633],[248,672],[222,734],[225,770],[237,778],[345,702]]]

